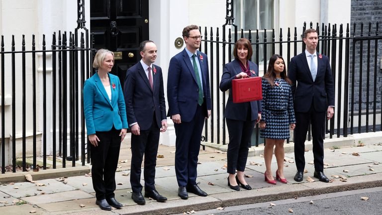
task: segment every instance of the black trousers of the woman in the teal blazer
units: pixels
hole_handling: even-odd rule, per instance
[[[92,181],[97,200],[114,197],[115,170],[117,169],[121,130],[96,131],[98,146],[90,144],[92,155]]]

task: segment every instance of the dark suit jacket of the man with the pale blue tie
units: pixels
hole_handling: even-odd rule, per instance
[[[296,112],[309,111],[313,100],[317,112],[326,111],[328,106],[334,106],[333,76],[327,56],[317,52],[317,75],[314,82],[305,52],[290,60],[288,77],[293,83],[292,95]]]

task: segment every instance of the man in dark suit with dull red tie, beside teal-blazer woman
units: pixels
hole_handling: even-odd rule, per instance
[[[159,134],[167,129],[166,104],[162,69],[154,65],[157,46],[146,40],[140,44],[142,60],[127,70],[124,84],[127,121],[131,128],[131,197],[139,205],[142,196],[141,165],[145,154],[145,197],[165,202],[166,197],[155,190],[155,166]]]

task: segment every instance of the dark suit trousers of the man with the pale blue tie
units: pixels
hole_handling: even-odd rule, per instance
[[[309,122],[313,136],[314,169],[324,170],[324,130],[326,112],[317,112],[312,104],[308,112],[295,112],[296,128],[294,129],[294,159],[297,171],[305,168],[305,140]]]

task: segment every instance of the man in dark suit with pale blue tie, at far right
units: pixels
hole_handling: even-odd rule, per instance
[[[289,63],[289,79],[293,82],[292,95],[296,128],[294,130],[294,159],[297,173],[294,180],[302,181],[305,167],[305,140],[309,122],[313,136],[314,174],[322,182],[329,182],[323,173],[325,116],[334,114],[334,84],[329,58],[316,52],[318,34],[314,29],[304,32],[305,52]],[[296,86],[297,82],[297,86]]]

